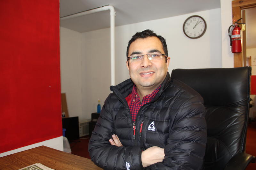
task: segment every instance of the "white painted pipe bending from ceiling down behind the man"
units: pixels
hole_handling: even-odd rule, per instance
[[[61,17],[60,20],[67,20],[71,18],[76,18],[88,14],[92,14],[100,11],[110,10],[110,62],[111,62],[111,85],[115,85],[115,8],[111,5],[102,6],[88,11],[79,12],[76,14],[68,15],[66,17]]]

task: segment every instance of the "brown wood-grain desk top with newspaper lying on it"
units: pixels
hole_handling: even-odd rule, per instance
[[[1,157],[0,169],[17,170],[35,163],[41,163],[55,170],[102,170],[90,159],[46,146],[39,146]]]

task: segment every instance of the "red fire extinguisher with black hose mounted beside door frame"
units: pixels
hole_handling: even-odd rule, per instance
[[[242,18],[240,18],[242,19]],[[242,39],[241,39],[241,28],[238,24],[244,24],[244,23],[237,23],[240,19],[238,19],[230,30],[231,26],[228,28],[229,38],[230,38],[230,51],[232,53],[240,53],[242,52]],[[231,31],[231,33],[230,33]],[[231,50],[232,49],[232,50]]]

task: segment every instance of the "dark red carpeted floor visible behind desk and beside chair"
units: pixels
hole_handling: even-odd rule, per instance
[[[73,154],[89,158],[89,152],[88,152],[88,142],[90,137],[85,136],[81,137],[79,140],[75,140],[70,143],[70,148]],[[251,155],[256,156],[256,122],[251,122],[248,124],[247,129],[247,137],[246,137],[246,153],[249,153]],[[247,166],[246,170],[255,170],[256,169],[256,163],[255,164],[249,164]]]

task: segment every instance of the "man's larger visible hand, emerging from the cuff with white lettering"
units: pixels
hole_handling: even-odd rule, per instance
[[[145,151],[141,152],[141,162],[143,167],[150,166],[157,162],[163,162],[164,148],[152,146]]]

